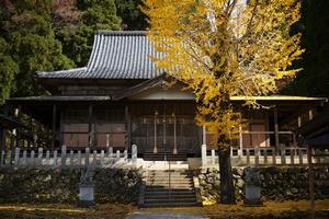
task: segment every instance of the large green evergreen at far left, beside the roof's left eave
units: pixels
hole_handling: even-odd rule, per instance
[[[70,68],[52,30],[52,1],[0,1],[1,97],[44,93],[34,80],[37,70]],[[14,80],[14,81],[13,81]]]

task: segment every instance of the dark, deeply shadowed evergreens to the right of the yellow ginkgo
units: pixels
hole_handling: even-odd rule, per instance
[[[302,18],[295,32],[302,32],[303,59],[295,66],[303,68],[283,94],[329,96],[329,1],[302,1]]]

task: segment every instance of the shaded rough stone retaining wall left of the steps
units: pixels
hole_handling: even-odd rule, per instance
[[[78,200],[78,170],[1,169],[0,203],[75,204]],[[141,183],[137,170],[93,171],[97,203],[135,203]]]

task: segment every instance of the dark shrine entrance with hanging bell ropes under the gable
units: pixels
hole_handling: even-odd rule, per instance
[[[201,129],[193,114],[166,104],[150,110],[151,115],[136,115],[132,124],[132,141],[145,160],[178,161],[200,154]]]

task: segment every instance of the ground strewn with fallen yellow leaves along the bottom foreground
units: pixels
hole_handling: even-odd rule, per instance
[[[316,201],[315,218],[329,218],[329,199]],[[192,208],[147,208],[138,209],[131,205],[99,205],[93,209],[75,208],[68,205],[0,205],[0,218],[38,219],[38,218],[125,218],[133,212],[138,214],[191,214],[204,215],[211,219],[288,219],[311,218],[309,201],[266,201],[262,207],[245,207],[242,204],[235,206],[213,205]]]

